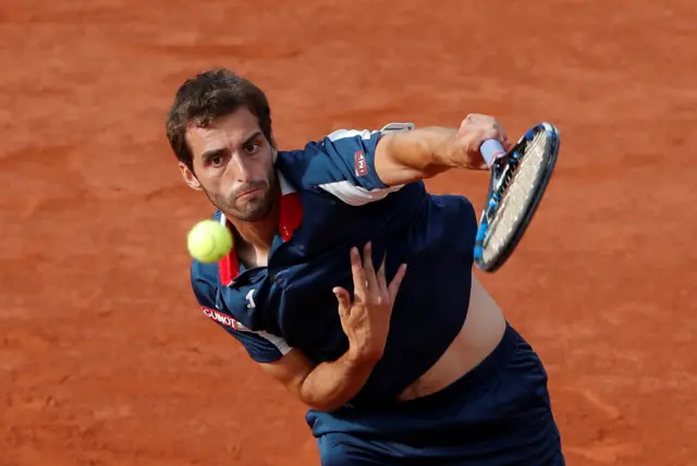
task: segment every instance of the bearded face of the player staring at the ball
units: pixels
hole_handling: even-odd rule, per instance
[[[221,116],[207,127],[191,126],[186,143],[194,172],[180,163],[182,175],[201,189],[227,216],[247,222],[264,219],[277,201],[274,149],[246,108]]]

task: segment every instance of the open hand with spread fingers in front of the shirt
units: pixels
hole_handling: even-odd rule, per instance
[[[358,249],[351,249],[354,302],[351,302],[345,289],[337,286],[332,290],[339,301],[342,328],[348,338],[348,360],[356,364],[377,363],[382,357],[392,306],[406,273],[406,265],[402,263],[388,285],[384,259],[376,273],[371,249],[371,244],[367,243],[363,250],[363,263]]]

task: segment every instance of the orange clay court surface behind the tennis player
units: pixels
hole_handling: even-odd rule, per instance
[[[282,148],[469,112],[512,138],[557,124],[534,223],[479,277],[548,367],[570,465],[697,464],[694,12],[3,0],[0,465],[317,464],[304,408],[189,289],[185,235],[211,208],[184,186],[163,119],[186,77],[218,65],[267,90]],[[487,183],[428,186],[480,208]]]

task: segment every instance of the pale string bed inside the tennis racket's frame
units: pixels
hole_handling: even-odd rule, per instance
[[[525,214],[539,183],[547,149],[547,135],[537,133],[523,148],[524,154],[518,161],[509,165],[497,189],[501,201],[485,238],[485,259],[500,252]]]

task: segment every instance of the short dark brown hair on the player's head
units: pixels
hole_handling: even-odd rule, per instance
[[[193,171],[192,152],[185,138],[188,127],[205,127],[241,107],[246,107],[259,120],[261,133],[273,145],[271,109],[256,85],[224,68],[186,79],[167,115],[167,138],[176,158]]]

